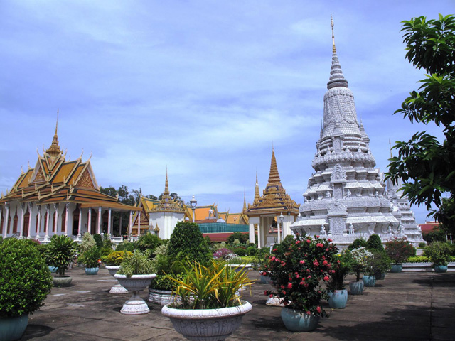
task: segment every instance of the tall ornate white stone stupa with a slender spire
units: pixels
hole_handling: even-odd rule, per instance
[[[342,248],[371,234],[380,235],[382,241],[403,237],[338,61],[333,21],[331,26],[331,73],[323,99],[323,126],[311,164],[316,173],[309,178],[304,203],[291,229],[330,237]]]

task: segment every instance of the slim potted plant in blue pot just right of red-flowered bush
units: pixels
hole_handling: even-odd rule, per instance
[[[335,257],[336,261],[332,264],[330,281],[327,283],[328,306],[333,309],[346,308],[348,302],[348,291],[344,285],[344,279],[349,274],[352,257],[350,251],[341,251]]]

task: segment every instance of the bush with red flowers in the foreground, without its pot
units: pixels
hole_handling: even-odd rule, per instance
[[[330,279],[337,251],[331,239],[287,236],[269,256],[270,278],[277,291],[265,294],[278,296],[287,307],[304,310],[308,315],[325,316],[320,303],[327,294],[321,283]]]

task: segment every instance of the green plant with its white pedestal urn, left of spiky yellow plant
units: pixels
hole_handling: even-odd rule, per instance
[[[132,256],[124,258],[114,278],[127,291],[132,292],[132,296],[124,303],[120,313],[128,315],[149,313],[150,309],[139,296],[139,292],[147,288],[155,276],[151,259],[141,251],[135,250]]]

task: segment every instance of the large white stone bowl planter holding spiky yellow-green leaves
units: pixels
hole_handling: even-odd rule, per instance
[[[164,305],[161,314],[171,319],[173,328],[188,340],[220,341],[229,337],[242,323],[252,306],[242,305],[219,309],[176,309]]]

